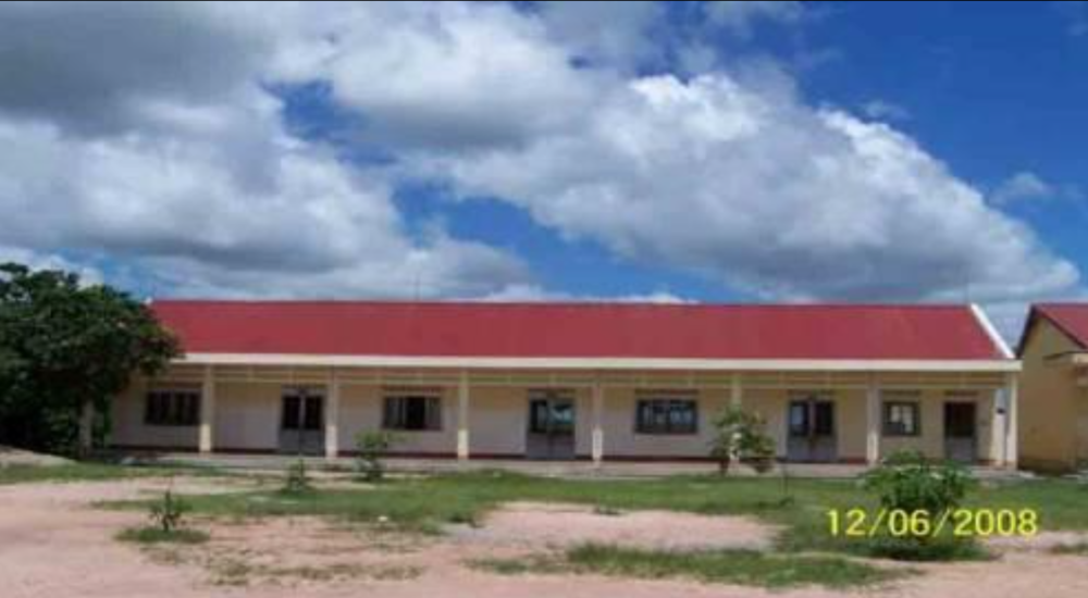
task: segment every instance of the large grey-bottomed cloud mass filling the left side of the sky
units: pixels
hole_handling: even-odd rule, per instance
[[[433,297],[529,281],[515,256],[409,234],[390,182],[285,130],[262,87],[282,65],[258,60],[296,40],[274,37],[283,15],[0,11],[4,245],[120,260],[183,295]]]

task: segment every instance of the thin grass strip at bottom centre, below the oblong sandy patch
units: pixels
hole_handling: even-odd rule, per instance
[[[820,585],[852,588],[913,573],[828,556],[767,555],[755,550],[670,552],[585,545],[560,558],[489,559],[469,563],[498,574],[595,573],[643,580],[687,578],[769,588]]]

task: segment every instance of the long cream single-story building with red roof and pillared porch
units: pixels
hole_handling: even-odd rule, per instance
[[[974,306],[153,301],[185,356],[114,402],[121,448],[707,459],[729,404],[780,459],[1015,466],[1019,362]]]

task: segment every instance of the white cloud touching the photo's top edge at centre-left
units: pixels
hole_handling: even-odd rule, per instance
[[[372,141],[516,145],[576,121],[595,94],[595,76],[571,66],[541,20],[505,4],[368,4],[349,15],[310,38],[322,50],[302,50],[310,59],[279,74],[327,79]]]

